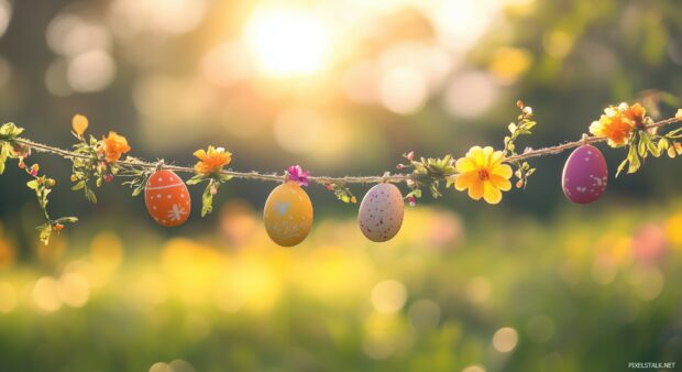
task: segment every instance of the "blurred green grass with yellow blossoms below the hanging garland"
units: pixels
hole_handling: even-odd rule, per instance
[[[680,362],[681,205],[566,207],[547,220],[417,207],[386,244],[365,241],[353,220],[328,218],[304,244],[282,249],[256,214],[232,203],[219,233],[132,237],[92,221],[89,232],[34,252],[33,264],[8,259],[6,231],[2,370],[618,371],[629,361]]]

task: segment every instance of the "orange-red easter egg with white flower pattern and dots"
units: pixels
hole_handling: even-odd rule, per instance
[[[156,171],[150,176],[144,201],[154,221],[167,228],[185,223],[191,210],[187,185],[172,171]]]

